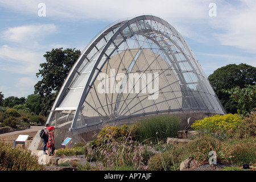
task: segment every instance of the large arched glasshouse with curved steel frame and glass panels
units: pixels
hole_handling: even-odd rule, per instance
[[[156,84],[155,78],[138,93],[123,93],[129,74],[154,72],[160,79],[158,99],[148,101],[152,93],[142,93],[148,84]],[[101,73],[106,76],[102,78]],[[98,84],[106,84],[111,76],[118,84],[119,73],[126,75],[117,85],[119,92],[97,92]],[[85,48],[64,81],[47,122],[70,124],[69,130],[76,131],[159,113],[225,114],[225,110],[179,32],[161,18],[142,15],[112,24]]]

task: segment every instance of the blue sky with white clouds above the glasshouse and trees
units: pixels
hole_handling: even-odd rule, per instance
[[[0,92],[27,98],[47,51],[83,51],[110,24],[139,15],[174,26],[207,76],[228,64],[256,67],[255,0],[0,0]]]

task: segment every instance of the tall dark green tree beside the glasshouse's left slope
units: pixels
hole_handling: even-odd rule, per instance
[[[46,52],[46,63],[40,64],[42,69],[36,73],[36,77],[42,77],[42,80],[34,86],[35,94],[39,94],[42,102],[40,114],[47,115],[47,110],[51,110],[57,92],[80,54],[75,48],[56,48]]]

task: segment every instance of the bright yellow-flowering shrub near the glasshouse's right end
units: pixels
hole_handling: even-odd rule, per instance
[[[195,121],[191,128],[205,133],[231,134],[228,131],[237,130],[242,118],[238,114],[213,115]]]

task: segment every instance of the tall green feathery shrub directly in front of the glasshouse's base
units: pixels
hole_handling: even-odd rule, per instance
[[[156,134],[159,140],[166,141],[168,137],[177,137],[177,131],[180,128],[180,119],[172,115],[158,115],[137,122],[136,134],[141,142],[156,140]]]

